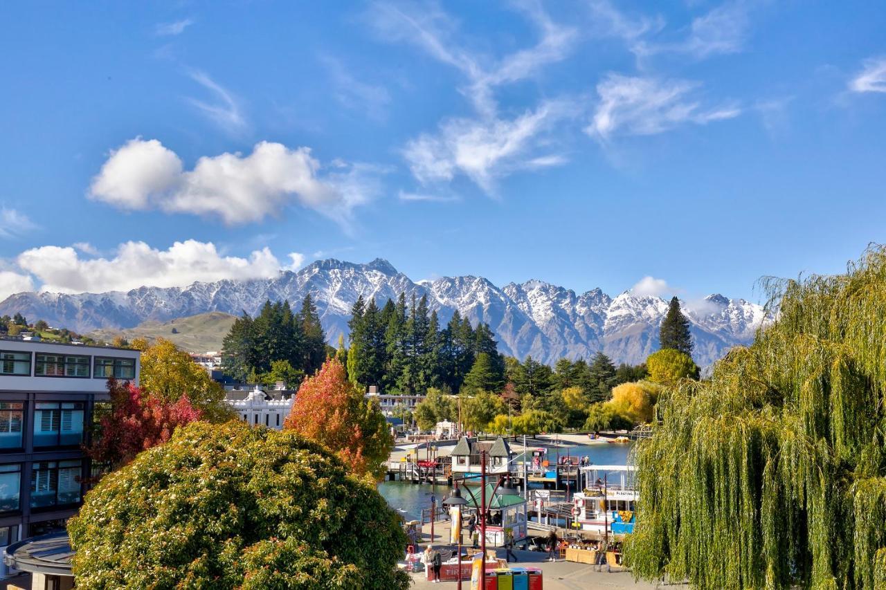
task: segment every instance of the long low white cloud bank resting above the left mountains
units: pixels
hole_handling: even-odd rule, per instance
[[[248,258],[221,256],[211,242],[175,242],[158,250],[127,242],[113,258],[82,258],[73,247],[41,246],[21,252],[19,268],[43,283],[41,291],[79,293],[128,291],[143,285],[180,287],[195,281],[276,276],[279,260],[267,247]],[[29,277],[27,277],[29,280]]]

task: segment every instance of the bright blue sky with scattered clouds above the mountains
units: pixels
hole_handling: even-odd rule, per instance
[[[879,2],[6,3],[0,297],[376,257],[759,299],[886,242]]]

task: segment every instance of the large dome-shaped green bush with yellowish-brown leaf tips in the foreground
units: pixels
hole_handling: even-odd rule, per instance
[[[102,479],[68,532],[81,588],[403,588],[398,518],[295,432],[191,423]]]

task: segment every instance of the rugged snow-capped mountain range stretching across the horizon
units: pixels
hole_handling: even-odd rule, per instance
[[[379,306],[396,299],[426,294],[441,324],[457,309],[470,321],[486,322],[495,332],[501,353],[527,355],[553,363],[562,357],[589,358],[598,350],[613,361],[638,363],[658,347],[658,327],[667,301],[625,291],[612,298],[600,289],[575,291],[542,281],[509,283],[502,288],[481,276],[452,276],[416,283],[387,260],[354,264],[318,260],[298,272],[284,271],[269,279],[222,280],[187,287],[140,287],[132,291],[63,294],[17,293],[0,302],[0,315],[24,314],[78,332],[97,328],[131,328],[145,320],[221,311],[255,314],[266,299],[289,299],[296,305],[310,292],[330,344],[347,336],[354,301],[374,297]],[[705,366],[738,344],[749,344],[767,320],[763,307],[743,299],[710,295],[684,302],[692,324],[696,362]]]

